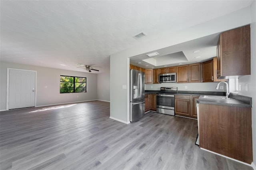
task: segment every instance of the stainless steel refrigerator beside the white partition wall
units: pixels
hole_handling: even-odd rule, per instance
[[[136,121],[145,113],[145,74],[130,70],[130,121]]]

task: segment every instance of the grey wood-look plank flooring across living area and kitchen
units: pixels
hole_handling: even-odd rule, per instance
[[[252,170],[196,146],[196,120],[149,112],[126,125],[109,116],[103,101],[2,111],[0,169]]]

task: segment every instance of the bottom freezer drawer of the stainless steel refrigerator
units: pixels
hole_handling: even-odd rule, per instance
[[[145,101],[130,103],[130,121],[136,121],[144,116]]]

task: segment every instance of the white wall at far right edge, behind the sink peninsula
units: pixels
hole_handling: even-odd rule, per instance
[[[242,85],[242,91],[237,91],[239,95],[252,97],[252,143],[253,162],[256,165],[256,1],[251,5],[251,75],[246,75],[238,79],[238,84]],[[248,91],[245,91],[245,85]],[[256,167],[254,167],[256,168]]]

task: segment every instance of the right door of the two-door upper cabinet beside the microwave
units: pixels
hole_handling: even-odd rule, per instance
[[[201,63],[189,65],[188,81],[191,83],[200,83],[201,82]]]

